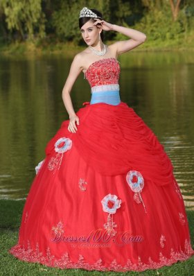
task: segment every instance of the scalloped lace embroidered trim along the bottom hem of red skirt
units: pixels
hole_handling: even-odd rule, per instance
[[[12,248],[10,248],[9,252],[17,257],[18,259],[29,261],[33,263],[41,263],[46,266],[55,267],[55,268],[84,268],[86,270],[102,270],[102,271],[121,271],[126,272],[128,270],[134,271],[143,271],[146,269],[155,269],[161,268],[162,266],[170,266],[175,264],[177,261],[184,261],[190,258],[193,255],[194,250],[191,248],[191,242],[187,239],[184,243],[184,250],[174,250],[171,248],[169,253],[169,257],[165,257],[162,253],[159,253],[158,261],[153,261],[151,257],[148,257],[148,262],[145,264],[141,261],[141,257],[138,257],[136,263],[132,259],[126,259],[125,264],[120,264],[120,262],[116,261],[116,259],[110,259],[109,264],[105,266],[105,261],[102,259],[96,259],[94,263],[87,263],[87,257],[79,255],[78,260],[72,260],[69,257],[68,252],[63,252],[63,255],[60,257],[55,257],[55,255],[51,255],[51,249],[49,247],[46,248],[46,253],[43,253],[39,250],[39,243],[36,243],[33,246],[33,243],[30,244],[28,241],[28,247],[24,248],[24,245],[20,245],[19,243]]]

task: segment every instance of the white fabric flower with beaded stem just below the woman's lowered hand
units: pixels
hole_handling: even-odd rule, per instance
[[[48,170],[53,171],[53,169],[60,169],[60,164],[62,162],[63,154],[70,150],[72,146],[71,139],[67,137],[62,137],[55,142],[55,152],[57,153],[55,157],[51,157],[50,161],[48,162]]]

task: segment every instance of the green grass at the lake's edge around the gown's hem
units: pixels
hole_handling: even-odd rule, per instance
[[[82,269],[67,269],[49,268],[42,264],[28,263],[13,257],[9,252],[13,245],[17,243],[18,231],[21,222],[21,214],[24,208],[25,200],[0,200],[0,275],[69,275],[69,276],[86,276],[86,275],[134,275],[134,276],[193,276],[194,275],[194,256],[182,262],[177,262],[172,266],[164,266],[157,270],[145,270],[141,273],[127,272],[127,273],[114,273],[114,272],[100,272],[100,271],[87,271]],[[187,210],[188,223],[191,233],[191,243],[194,245],[194,211]]]

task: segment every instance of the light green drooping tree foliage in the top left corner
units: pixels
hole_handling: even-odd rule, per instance
[[[1,0],[1,9],[6,15],[8,30],[18,31],[21,39],[32,39],[35,32],[44,37],[44,13],[41,0]]]

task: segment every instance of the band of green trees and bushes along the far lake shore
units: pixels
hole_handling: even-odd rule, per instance
[[[100,10],[112,24],[142,31],[147,35],[146,44],[193,37],[193,0],[181,2],[177,21],[173,21],[167,0],[0,0],[0,43],[27,38],[39,46],[83,44],[78,19],[84,6]],[[104,34],[105,40],[126,39],[121,33]]]

